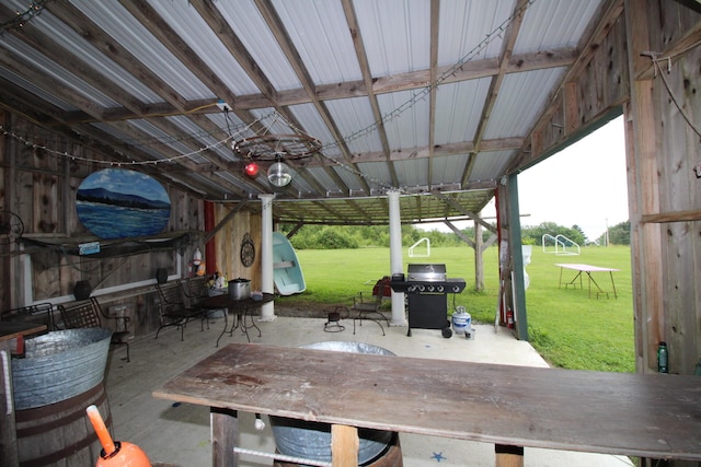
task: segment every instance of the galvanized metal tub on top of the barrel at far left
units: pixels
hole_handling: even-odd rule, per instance
[[[27,339],[25,358],[12,359],[18,410],[48,406],[85,393],[102,382],[112,330],[51,331]]]

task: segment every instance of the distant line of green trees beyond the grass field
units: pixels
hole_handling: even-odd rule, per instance
[[[281,224],[280,231],[290,232],[291,224]],[[474,227],[460,231],[468,238],[474,238]],[[563,235],[577,245],[591,243],[605,245],[606,232],[596,241],[589,241],[578,225],[565,227],[554,222],[543,222],[536,226],[521,227],[521,243],[524,245],[540,245],[543,235]],[[486,241],[492,233],[483,229],[482,238]],[[402,245],[411,246],[421,238],[428,238],[430,246],[461,246],[464,242],[455,232],[438,230],[425,231],[416,225],[402,225]],[[365,247],[389,247],[390,229],[388,225],[304,225],[290,238],[297,249],[346,249]],[[609,229],[609,243],[630,245],[630,222],[621,222]]]

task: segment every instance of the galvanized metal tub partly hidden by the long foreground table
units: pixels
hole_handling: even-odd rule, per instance
[[[387,349],[364,342],[329,341],[301,347],[334,352],[394,355]],[[275,444],[280,454],[310,460],[331,462],[331,424],[284,417],[269,417],[269,420]],[[359,465],[372,462],[387,451],[394,435],[395,433],[391,431],[358,429],[360,437]]]

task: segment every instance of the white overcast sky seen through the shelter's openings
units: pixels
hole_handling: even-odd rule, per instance
[[[578,225],[588,240],[628,220],[623,117],[618,117],[518,176],[521,227]],[[493,217],[492,203],[482,212]],[[489,220],[492,222],[493,220]],[[456,223],[460,229],[472,222]],[[443,223],[423,229],[449,232]]]

